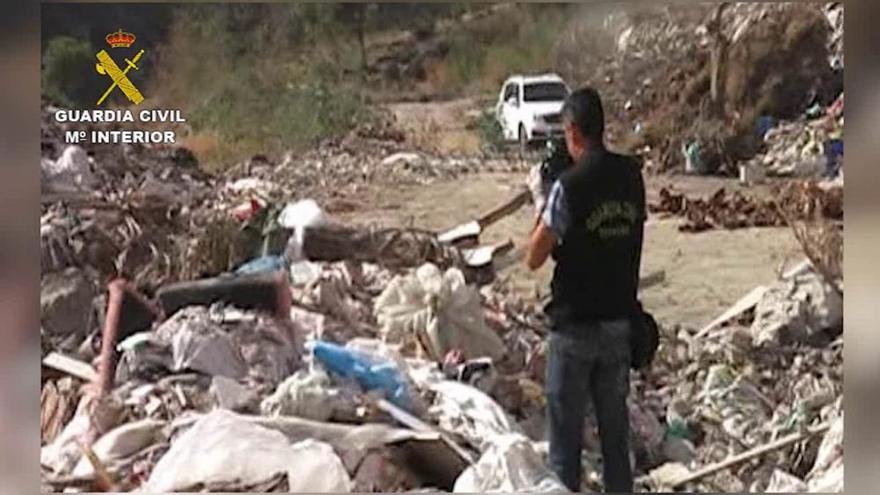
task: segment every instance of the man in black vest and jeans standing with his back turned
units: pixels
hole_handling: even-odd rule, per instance
[[[602,446],[606,492],[632,491],[629,455],[630,316],[637,305],[645,221],[641,165],[604,144],[604,112],[592,88],[577,90],[562,109],[573,159],[541,197],[526,264],[556,262],[546,377],[550,465],[573,491],[581,489],[581,449],[592,399]],[[534,181],[534,179],[532,179]]]

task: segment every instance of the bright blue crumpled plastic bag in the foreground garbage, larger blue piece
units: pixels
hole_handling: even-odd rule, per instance
[[[364,390],[382,390],[389,402],[412,411],[406,382],[394,363],[322,340],[315,342],[312,352],[330,372],[354,378]]]

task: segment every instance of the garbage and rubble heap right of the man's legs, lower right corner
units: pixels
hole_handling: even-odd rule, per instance
[[[642,481],[657,490],[842,490],[842,301],[804,262],[700,330],[666,329],[638,393],[665,414],[657,436],[671,460]]]

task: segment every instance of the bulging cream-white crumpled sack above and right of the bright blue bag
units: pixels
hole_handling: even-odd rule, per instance
[[[445,273],[430,263],[391,280],[376,299],[374,313],[385,339],[401,342],[421,333],[435,360],[453,349],[465,359],[500,359],[504,343],[483,318],[479,293],[457,268]]]

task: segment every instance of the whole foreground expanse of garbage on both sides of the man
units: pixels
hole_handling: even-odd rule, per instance
[[[44,490],[564,491],[546,322],[492,276],[509,247],[479,245],[522,195],[439,235],[339,225],[321,205],[355,155],[210,176],[44,130]],[[424,179],[408,158],[367,180]],[[807,266],[708,330],[663,329],[630,397],[641,488],[842,485],[835,287]]]

